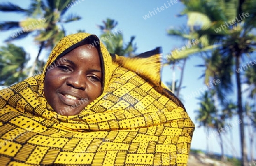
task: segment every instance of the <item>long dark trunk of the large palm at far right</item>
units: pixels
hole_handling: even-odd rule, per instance
[[[236,56],[236,69],[240,68],[240,54]],[[247,151],[245,142],[245,124],[243,121],[243,110],[242,110],[242,90],[241,90],[241,79],[240,73],[236,73],[237,79],[237,106],[238,106],[238,116],[241,120],[240,124],[240,142],[241,142],[241,156],[242,156],[242,166],[247,166]]]

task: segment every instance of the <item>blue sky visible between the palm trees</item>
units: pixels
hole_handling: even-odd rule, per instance
[[[13,2],[21,7],[27,8],[30,1],[3,1],[0,0],[0,3],[3,2]],[[85,32],[93,33],[96,35],[100,35],[100,29],[97,28],[97,25],[102,25],[102,20],[106,20],[106,18],[115,19],[118,22],[117,28],[122,29],[122,33],[125,37],[125,41],[129,41],[131,36],[135,36],[135,42],[137,44],[137,52],[143,53],[147,50],[154,49],[156,46],[162,46],[163,48],[163,56],[166,56],[170,53],[171,50],[175,48],[181,48],[181,46],[185,46],[187,42],[177,39],[176,37],[170,37],[167,35],[167,29],[170,27],[178,27],[180,25],[185,25],[187,18],[186,16],[177,17],[183,10],[183,5],[180,2],[175,3],[175,1],[162,0],[162,1],[82,1],[77,0],[75,5],[69,6],[68,13],[73,13],[80,15],[82,17],[81,20],[77,22],[73,22],[70,24],[65,24],[64,27],[67,30],[67,34],[76,33],[79,29],[84,29]],[[153,13],[155,15],[153,15]],[[145,15],[148,15],[149,18],[144,19]],[[143,18],[144,17],[144,18]],[[20,14],[6,14],[1,13],[0,21],[4,20],[22,20],[24,19],[23,15]],[[11,32],[0,32],[1,36],[1,44],[0,46],[5,45],[3,43],[4,39],[7,39],[14,33]],[[30,53],[31,59],[34,61],[36,53],[38,52],[38,45],[33,42],[32,37],[28,37],[25,40],[15,41],[14,44],[23,46],[24,49],[28,53]],[[43,53],[44,56],[47,57],[47,52]],[[181,96],[183,98],[187,95],[196,94],[196,92],[200,88],[203,89],[205,85],[203,84],[203,79],[198,79],[202,74],[203,69],[199,67],[195,67],[195,65],[203,64],[203,61],[193,56],[187,61],[187,65],[185,66],[184,80],[183,86],[184,89],[181,90]],[[176,68],[175,75],[176,79],[179,78],[180,70]],[[164,83],[170,82],[172,79],[172,70],[170,66],[163,68],[162,80]],[[201,94],[201,92],[197,92],[197,94]],[[195,95],[190,97],[189,99],[184,101],[185,108],[189,116],[195,122],[196,126],[198,126],[195,121],[195,110],[199,108],[198,102],[196,99],[199,95]],[[185,98],[184,98],[185,99]],[[225,153],[232,155],[232,152],[236,152],[236,155],[240,155],[240,142],[238,133],[238,122],[237,118],[230,120],[231,124],[234,124],[232,131],[233,140],[230,140],[230,132],[226,131],[225,133]],[[228,133],[228,134],[226,134]],[[194,149],[205,150],[206,142],[207,142],[207,134],[205,134],[205,130],[203,127],[197,127],[193,139],[191,147]],[[218,144],[218,138],[213,137],[209,139],[210,142],[210,151],[211,152],[220,152],[220,146]],[[235,147],[235,150],[232,150],[232,143]],[[247,143],[248,144],[248,143]]]

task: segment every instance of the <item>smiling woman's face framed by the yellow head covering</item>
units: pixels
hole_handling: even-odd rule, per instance
[[[102,79],[97,49],[82,45],[48,67],[44,96],[55,112],[73,116],[101,95]]]

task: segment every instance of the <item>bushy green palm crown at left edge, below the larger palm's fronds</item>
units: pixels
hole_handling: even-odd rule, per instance
[[[0,47],[0,85],[10,86],[27,77],[25,66],[30,57],[22,47],[8,44]]]

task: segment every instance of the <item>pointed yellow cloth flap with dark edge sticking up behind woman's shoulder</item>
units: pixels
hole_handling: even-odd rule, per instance
[[[132,58],[115,56],[115,61],[126,69],[134,71],[138,75],[142,76],[142,78],[159,86],[161,81],[160,70],[162,65],[161,53],[162,49],[157,47]]]

